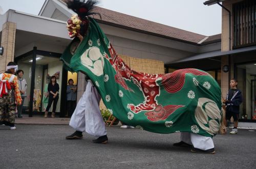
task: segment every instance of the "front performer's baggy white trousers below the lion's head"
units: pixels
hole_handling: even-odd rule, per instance
[[[69,125],[77,131],[86,131],[96,137],[106,135],[105,123],[99,109],[100,99],[97,89],[88,80],[86,91],[77,103]]]

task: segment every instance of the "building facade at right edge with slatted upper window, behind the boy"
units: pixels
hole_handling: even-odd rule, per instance
[[[223,72],[221,87],[224,94],[229,89],[230,78],[238,79],[238,89],[242,91],[243,103],[240,106],[239,120],[256,122],[256,1],[226,0],[207,1],[206,5],[222,2],[222,52],[233,52],[221,57]]]

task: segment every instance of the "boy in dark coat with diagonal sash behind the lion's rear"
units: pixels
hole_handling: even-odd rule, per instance
[[[226,100],[223,103],[226,105],[226,118],[225,126],[227,127],[227,120],[230,120],[231,117],[234,119],[234,128],[229,134],[238,133],[238,115],[239,115],[239,105],[242,103],[242,92],[237,89],[238,81],[237,79],[232,78],[230,80],[230,89],[228,90]]]

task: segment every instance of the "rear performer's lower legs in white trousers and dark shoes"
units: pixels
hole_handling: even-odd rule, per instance
[[[181,142],[175,143],[174,146],[179,147],[192,147],[191,152],[194,153],[209,153],[214,154],[214,142],[211,137],[206,137],[203,135],[181,132],[180,135]]]

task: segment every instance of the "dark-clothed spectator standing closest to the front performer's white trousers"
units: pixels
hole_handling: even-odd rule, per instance
[[[76,108],[76,91],[77,87],[74,84],[73,79],[69,79],[69,85],[67,86],[67,110],[68,115],[71,117]]]

